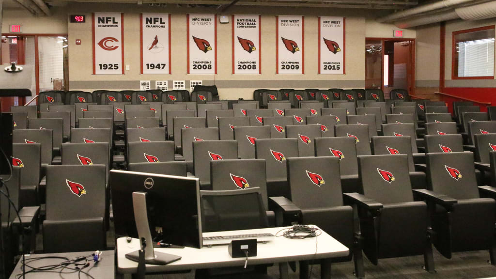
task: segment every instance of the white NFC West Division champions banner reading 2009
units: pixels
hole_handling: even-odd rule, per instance
[[[276,16],[276,73],[305,73],[304,17]]]

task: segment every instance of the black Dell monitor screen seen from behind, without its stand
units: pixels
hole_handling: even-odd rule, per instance
[[[144,192],[154,243],[201,248],[198,178],[111,170],[109,179],[117,236],[138,238],[132,193]]]

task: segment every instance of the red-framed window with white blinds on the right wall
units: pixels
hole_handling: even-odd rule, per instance
[[[495,26],[453,32],[453,79],[493,79]]]

